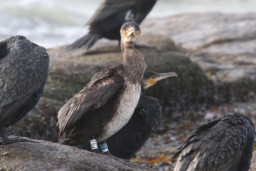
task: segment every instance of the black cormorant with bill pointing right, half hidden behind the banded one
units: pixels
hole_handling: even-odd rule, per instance
[[[157,81],[167,77],[177,76],[175,72],[158,74],[145,71],[141,82],[141,92],[154,85]],[[162,111],[158,100],[141,95],[138,105],[128,123],[117,133],[106,139],[109,151],[115,157],[130,159],[143,146],[158,125]],[[91,151],[87,144],[76,146],[80,149]]]

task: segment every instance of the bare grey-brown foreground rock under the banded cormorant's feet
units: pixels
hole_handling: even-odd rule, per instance
[[[0,170],[152,170],[76,147],[36,140],[0,146]]]

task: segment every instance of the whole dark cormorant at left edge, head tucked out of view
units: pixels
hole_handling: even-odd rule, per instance
[[[18,135],[8,137],[6,128],[32,110],[44,90],[49,55],[44,47],[24,36],[0,42],[0,142],[30,141]]]

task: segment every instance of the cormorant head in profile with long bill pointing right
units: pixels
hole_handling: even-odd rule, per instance
[[[173,76],[177,77],[177,74],[175,72],[158,74],[153,71],[146,70],[141,81],[141,92],[144,92],[146,89],[148,89],[148,87],[156,84],[159,80]]]

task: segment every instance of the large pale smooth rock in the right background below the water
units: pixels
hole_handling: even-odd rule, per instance
[[[255,13],[180,14],[150,18],[140,27],[142,36],[161,28],[157,34],[187,49],[186,56],[214,81],[216,104],[255,99]]]

